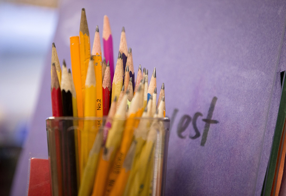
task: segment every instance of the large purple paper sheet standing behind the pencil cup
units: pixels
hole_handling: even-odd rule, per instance
[[[135,70],[156,66],[158,91],[165,83],[174,117],[166,195],[260,195],[280,101],[285,1],[64,0],[53,41],[67,67],[82,7],[90,32],[108,15],[114,48],[124,25]],[[47,157],[50,56],[12,195],[25,192],[29,156]]]

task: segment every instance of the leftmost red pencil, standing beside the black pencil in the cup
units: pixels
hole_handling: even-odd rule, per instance
[[[59,79],[55,68],[55,63],[51,66],[51,104],[52,104],[52,115],[54,117],[63,116],[63,105],[61,101],[61,88],[59,86]],[[51,182],[53,186],[53,195],[62,195],[62,171],[61,171],[61,142],[60,142],[59,131],[55,130],[54,134],[51,133],[49,136],[49,143],[55,142],[55,149],[49,145],[49,153],[51,158]]]

